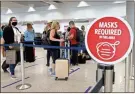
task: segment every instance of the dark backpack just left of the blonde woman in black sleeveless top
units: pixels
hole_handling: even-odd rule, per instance
[[[42,38],[43,45],[50,45],[51,44],[49,36],[50,36],[50,30],[48,30],[47,32],[44,31],[43,38]]]

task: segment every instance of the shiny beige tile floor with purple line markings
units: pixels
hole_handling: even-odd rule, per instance
[[[96,84],[97,64],[94,61],[87,61],[86,64],[70,68],[68,81],[55,81],[46,67],[46,52],[43,49],[36,49],[36,61],[25,63],[25,83],[32,85],[26,90],[17,90],[16,86],[21,84],[21,66],[16,67],[17,79],[11,79],[8,73],[1,70],[1,92],[85,92],[90,86]],[[73,71],[76,70],[76,71]],[[116,80],[113,85],[113,92],[124,92],[125,63],[115,65]],[[130,92],[134,91],[134,80],[130,82]]]

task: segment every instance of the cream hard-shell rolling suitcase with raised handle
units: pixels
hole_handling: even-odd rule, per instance
[[[65,43],[66,46],[66,43]],[[60,55],[61,56],[61,55]],[[69,76],[69,60],[67,59],[67,51],[64,50],[64,58],[59,58],[55,63],[55,80],[65,79],[68,80]]]

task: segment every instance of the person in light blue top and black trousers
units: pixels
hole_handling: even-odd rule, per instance
[[[25,44],[32,44],[34,41],[35,33],[33,30],[33,27],[30,23],[27,24],[27,30],[24,33],[24,41]],[[35,61],[35,56],[34,56],[34,49],[33,47],[25,47],[25,60],[26,62],[34,62]]]

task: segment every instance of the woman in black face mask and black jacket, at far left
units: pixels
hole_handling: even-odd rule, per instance
[[[9,20],[8,26],[4,28],[3,32],[3,39],[5,41],[5,44],[13,44],[13,43],[20,43],[21,42],[21,32],[16,27],[17,25],[17,19],[16,17],[11,17]],[[14,46],[6,46],[5,50],[12,50],[14,49]],[[6,62],[3,63],[2,68],[4,72],[9,71],[12,78],[16,78],[15,76],[15,66],[20,61],[20,51],[16,51],[16,63],[15,64],[6,64]],[[8,70],[8,67],[10,70]]]

